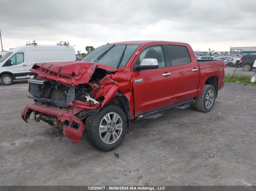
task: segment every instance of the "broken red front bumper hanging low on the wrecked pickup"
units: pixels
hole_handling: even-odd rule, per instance
[[[32,112],[40,112],[43,114],[55,116],[58,123],[63,124],[63,134],[68,138],[73,140],[74,144],[77,144],[84,132],[85,125],[83,122],[76,117],[74,114],[58,109],[55,107],[50,107],[42,104],[27,104],[22,110],[21,117],[28,123],[29,116]]]

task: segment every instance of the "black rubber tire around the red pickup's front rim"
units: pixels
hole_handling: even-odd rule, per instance
[[[120,132],[120,136],[117,138],[115,142],[107,144],[101,139],[99,128],[101,120],[103,120],[103,118],[111,112],[115,112],[120,116],[122,121],[122,131]],[[101,151],[112,151],[116,149],[123,141],[126,131],[127,119],[125,113],[120,107],[116,105],[108,104],[105,107],[103,107],[97,114],[89,115],[85,120],[85,136],[88,143],[93,148],[96,148]],[[114,135],[112,138],[114,138]]]

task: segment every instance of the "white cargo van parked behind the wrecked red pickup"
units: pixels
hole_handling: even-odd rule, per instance
[[[29,69],[38,62],[75,61],[73,46],[28,45],[10,49],[0,58],[0,81],[11,85],[13,80],[34,75]]]

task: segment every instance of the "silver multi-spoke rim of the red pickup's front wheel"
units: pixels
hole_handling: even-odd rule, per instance
[[[123,122],[117,113],[111,112],[106,114],[103,119],[101,119],[99,126],[101,140],[106,144],[113,144],[120,138],[122,129]]]

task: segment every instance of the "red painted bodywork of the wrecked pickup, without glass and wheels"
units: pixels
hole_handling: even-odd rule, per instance
[[[27,122],[27,113],[35,110],[57,116],[61,122],[68,120],[70,122],[69,125],[63,127],[64,134],[69,139],[74,140],[74,143],[78,143],[85,126],[75,114],[84,109],[95,110],[104,107],[118,92],[121,92],[127,98],[130,105],[130,117],[134,119],[135,116],[141,113],[146,113],[194,97],[200,97],[206,80],[211,76],[217,76],[219,90],[224,86],[224,82],[222,82],[224,78],[224,61],[198,63],[192,48],[187,43],[130,41],[112,44],[138,44],[141,46],[131,56],[127,65],[119,69],[90,62],[49,62],[35,64],[30,70],[38,75],[42,75],[42,79],[52,79],[68,87],[71,85],[88,84],[92,87],[92,97],[94,99],[104,96],[101,103],[92,104],[75,100],[73,103],[68,103],[67,110],[47,107],[41,104],[29,104],[22,111],[22,119]],[[191,57],[191,63],[178,66],[167,65],[165,68],[133,72],[132,68],[142,50],[147,46],[159,44],[186,46]],[[95,72],[95,68],[108,70],[112,74],[106,75],[97,83],[91,83],[89,80]],[[192,69],[195,68],[199,70],[192,72]],[[171,75],[162,76],[162,74],[168,72],[171,72]],[[143,79],[143,82],[135,83],[136,79]],[[78,130],[71,128],[72,121],[80,125]]]

